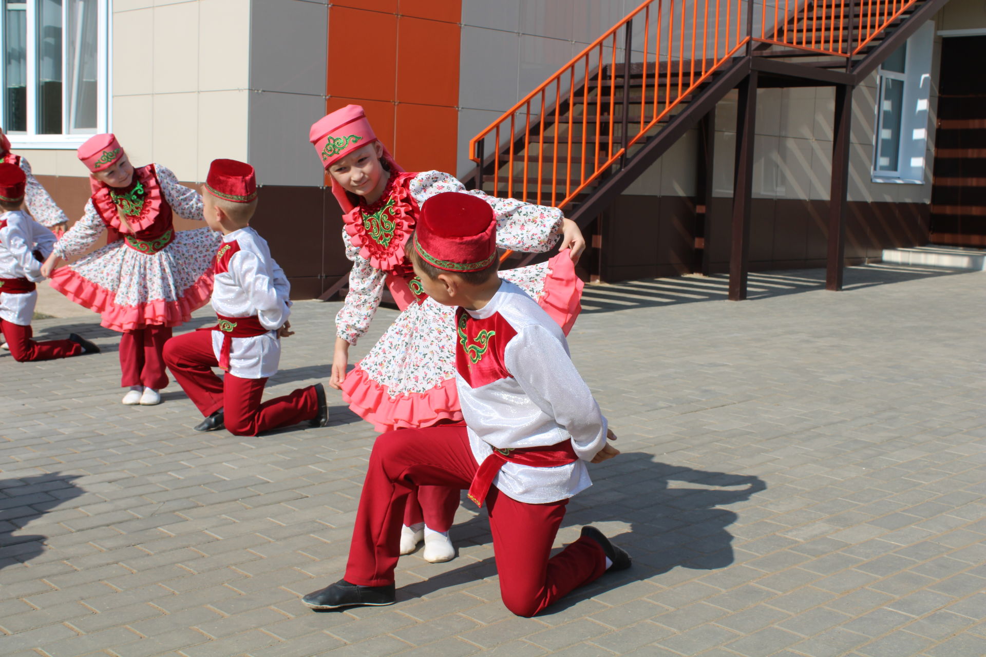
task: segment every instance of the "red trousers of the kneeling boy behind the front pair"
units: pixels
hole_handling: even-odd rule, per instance
[[[240,378],[227,372],[219,378],[212,351],[212,331],[190,331],[165,345],[165,362],[175,380],[203,416],[223,409],[226,429],[234,435],[256,435],[276,427],[297,425],[318,414],[315,386],[260,403],[266,378]]]

